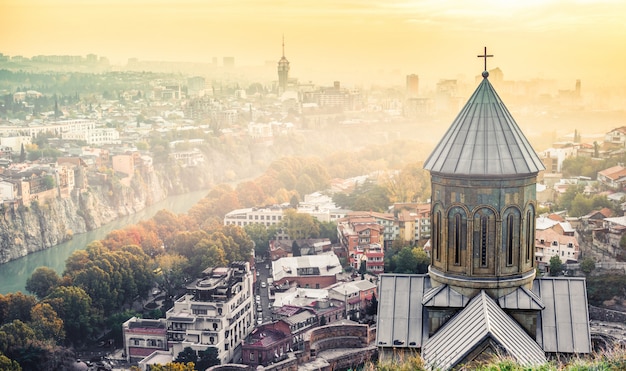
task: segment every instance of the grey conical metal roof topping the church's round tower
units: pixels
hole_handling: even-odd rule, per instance
[[[533,174],[545,167],[486,76],[424,164],[466,176]]]

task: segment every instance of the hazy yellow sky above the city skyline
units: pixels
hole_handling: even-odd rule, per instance
[[[291,76],[626,83],[624,0],[0,0],[0,53],[261,65]],[[326,81],[316,81],[326,83]],[[401,83],[401,82],[400,82]]]

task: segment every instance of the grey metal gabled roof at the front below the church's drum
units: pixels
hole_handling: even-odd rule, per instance
[[[484,291],[428,339],[422,357],[427,368],[448,370],[489,339],[522,365],[547,362],[539,344]]]

